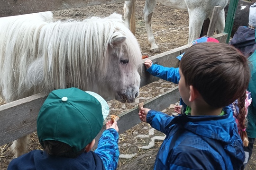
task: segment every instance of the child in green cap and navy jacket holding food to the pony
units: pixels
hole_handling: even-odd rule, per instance
[[[52,91],[37,118],[44,151],[12,160],[8,170],[115,170],[119,159],[116,121],[106,122],[97,149],[91,151],[108,114],[108,103],[97,93],[78,88]]]

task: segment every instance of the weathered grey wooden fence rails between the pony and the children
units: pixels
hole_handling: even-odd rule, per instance
[[[225,43],[227,34],[217,34],[213,36],[218,39],[219,42]],[[153,63],[163,65],[165,67],[178,67],[179,60],[176,56],[180,55],[189,48],[189,45],[176,48],[171,51],[166,51],[161,54],[150,57]],[[158,80],[157,77],[151,76],[144,68],[144,61],[141,61],[142,70],[140,72],[141,84],[140,86],[147,85]],[[19,137],[28,135],[37,130],[37,114],[43,102],[45,101],[47,94],[39,93],[14,102],[10,102],[0,106],[0,145],[7,144]],[[145,103],[145,107],[152,108],[154,110],[164,110],[169,107],[170,104],[179,100],[180,94],[178,88],[167,91],[155,98],[148,100]],[[134,127],[140,122],[137,116],[138,108],[128,110],[119,115],[119,133],[123,133],[131,127]],[[96,137],[99,138],[105,125],[101,129],[101,132]],[[98,141],[98,140],[96,140]]]

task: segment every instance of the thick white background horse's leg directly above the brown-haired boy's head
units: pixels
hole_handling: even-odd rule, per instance
[[[203,12],[199,11],[200,9],[188,9],[189,13],[189,39],[188,43],[191,43],[195,39],[200,37],[201,28],[203,21],[206,18]]]

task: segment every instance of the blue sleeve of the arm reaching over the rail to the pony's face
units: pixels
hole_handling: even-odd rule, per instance
[[[158,64],[152,64],[146,71],[152,76],[159,77],[174,84],[178,84],[181,78],[179,68],[168,68]]]

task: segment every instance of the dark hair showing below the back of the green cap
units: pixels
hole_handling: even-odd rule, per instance
[[[79,152],[74,152],[73,147],[70,145],[54,140],[43,141],[43,148],[48,155],[62,156],[66,158],[76,158],[84,152],[84,149]]]

